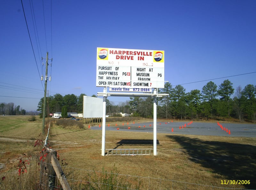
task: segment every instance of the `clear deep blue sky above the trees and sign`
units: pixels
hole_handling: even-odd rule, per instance
[[[21,1],[1,1],[0,103],[37,109],[47,51],[49,95],[97,95],[103,91],[96,87],[97,47],[164,50],[165,80],[186,92],[221,77],[227,78],[212,81],[256,85],[255,0],[22,3],[28,29]],[[118,105],[129,97],[108,99]]]

